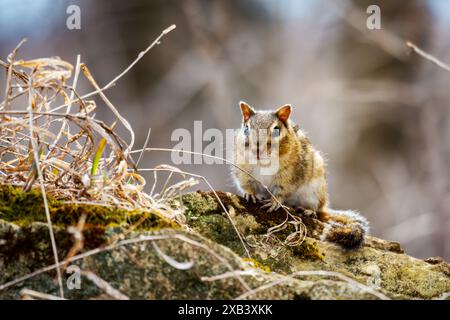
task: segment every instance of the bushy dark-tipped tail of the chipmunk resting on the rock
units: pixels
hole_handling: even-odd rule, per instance
[[[321,240],[340,245],[345,249],[357,249],[369,232],[369,222],[358,212],[327,208],[321,215],[325,222]]]

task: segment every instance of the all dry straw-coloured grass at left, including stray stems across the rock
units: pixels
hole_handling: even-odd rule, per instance
[[[175,26],[171,26],[164,30],[129,67],[103,87],[98,85],[88,67],[81,62],[80,56],[77,57],[75,68],[69,62],[58,57],[28,61],[16,60],[16,55],[26,40],[19,43],[9,55],[7,62],[0,60],[0,66],[4,67],[7,72],[5,99],[0,104],[0,184],[20,187],[24,191],[32,188],[41,189],[55,261],[52,266],[1,284],[0,290],[43,272],[56,270],[60,289],[59,298],[64,298],[61,270],[65,269],[69,262],[136,241],[172,238],[155,236],[124,242],[117,237],[117,239],[111,239],[104,247],[81,252],[84,246],[82,231],[85,223],[85,217],[82,217],[77,226],[71,226],[68,229],[74,236],[74,245],[65,259],[60,262],[47,195],[65,203],[152,211],[175,220],[182,227],[188,229],[187,225],[183,224],[184,219],[180,217],[182,214],[167,205],[166,200],[181,195],[183,190],[192,187],[198,181],[194,178],[188,179],[188,174],[177,168],[161,165],[155,170],[170,172],[162,190],[159,193],[155,192],[157,184],[155,171],[151,193],[144,192],[143,187],[146,180],[137,170],[137,164],[143,156],[143,151],[140,152],[137,162],[134,163],[130,152],[135,139],[133,129],[104,94],[105,90],[114,86],[151,48],[160,43],[164,35],[174,28]],[[73,73],[74,77],[70,84],[69,80]],[[80,75],[84,75],[92,84],[94,91],[84,95],[78,92],[77,83]],[[116,116],[117,120],[114,123],[106,124],[96,118],[95,111],[98,106],[94,100],[88,100],[88,98],[97,94]],[[55,105],[56,107],[54,107]],[[131,137],[129,143],[116,134],[115,127],[118,123],[128,130]],[[143,149],[147,147],[148,138],[149,135],[147,135]],[[170,184],[173,173],[181,174],[183,180]],[[194,176],[205,181],[213,190],[204,177]],[[217,199],[221,201],[218,196]],[[223,204],[222,207],[226,211]],[[131,225],[126,232],[131,232],[135,227],[135,225]],[[239,233],[238,235],[247,250],[241,235]],[[173,238],[203,248],[215,256],[219,263],[232,270],[226,259],[205,245],[182,235],[175,235]],[[172,267],[186,270],[193,265],[191,261],[175,261],[164,254],[156,243],[153,243],[153,247]],[[114,291],[114,288],[96,275],[89,273],[88,276],[110,296],[127,298],[120,292]],[[250,290],[245,281],[239,276],[238,279],[245,290]],[[58,298],[28,289],[23,292],[23,297]]]

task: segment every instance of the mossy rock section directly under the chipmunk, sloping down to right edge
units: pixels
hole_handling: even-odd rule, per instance
[[[258,204],[247,203],[239,196],[224,192],[217,194],[227,210],[234,213],[233,220],[244,238],[261,236],[286,218],[282,210],[267,214],[259,209]],[[183,201],[194,230],[244,256],[236,231],[220,210],[212,192],[190,193],[183,196]],[[442,259],[434,259],[433,263],[415,259],[404,254],[398,243],[371,236],[367,237],[362,248],[344,250],[320,240],[323,228],[320,221],[305,216],[302,216],[302,221],[308,234],[299,246],[280,247],[273,254],[265,248],[250,248],[252,258],[271,271],[285,275],[300,270],[339,272],[392,298],[431,299],[450,291],[450,265]],[[286,233],[289,232],[278,236],[285,237]]]

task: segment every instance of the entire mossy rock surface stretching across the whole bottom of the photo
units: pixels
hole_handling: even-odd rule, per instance
[[[374,237],[358,250],[345,251],[320,241],[323,224],[301,215],[306,237],[301,244],[288,246],[284,242],[292,240],[295,224],[267,235],[269,228],[285,221],[283,210],[269,215],[233,194],[218,195],[248,243],[251,257],[246,256],[213,193],[194,192],[181,201],[171,201],[173,208],[184,211],[189,228],[147,213],[152,222],[130,232],[126,212],[108,212],[114,218],[105,221],[92,208],[71,210],[71,214],[86,211],[88,223],[86,256],[69,264],[81,270],[80,289],[69,290],[67,283],[72,283],[74,274],[63,272],[66,298],[115,297],[111,288],[122,294],[119,298],[132,299],[432,299],[445,298],[450,291],[450,272],[444,261],[433,264],[409,257],[398,243]],[[24,288],[58,295],[54,269],[5,287],[54,264],[47,224],[24,221],[19,213],[15,221],[13,211],[5,209],[11,202],[17,204],[11,197],[0,197],[0,299],[19,298]],[[57,212],[64,214],[61,208]],[[96,219],[89,218],[92,212]],[[52,219],[63,260],[73,246],[67,226],[76,220]],[[109,289],[96,284],[87,271],[106,281]]]

